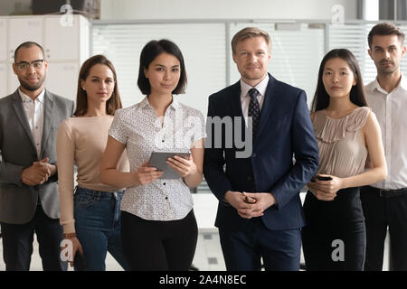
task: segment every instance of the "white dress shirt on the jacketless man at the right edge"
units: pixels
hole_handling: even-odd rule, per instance
[[[407,79],[391,93],[374,79],[365,87],[367,104],[372,107],[382,130],[387,178],[371,186],[396,190],[407,188]]]

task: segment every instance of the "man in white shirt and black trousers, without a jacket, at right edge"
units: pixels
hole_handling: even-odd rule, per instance
[[[377,77],[365,87],[367,103],[382,129],[387,178],[361,190],[366,224],[365,270],[383,267],[384,239],[389,228],[391,269],[407,270],[407,79],[400,61],[404,33],[392,23],[375,25],[368,36],[369,55]]]

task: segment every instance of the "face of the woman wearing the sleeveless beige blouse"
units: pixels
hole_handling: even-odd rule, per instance
[[[354,72],[346,61],[337,57],[326,62],[322,81],[330,98],[349,98],[352,87],[356,85]]]

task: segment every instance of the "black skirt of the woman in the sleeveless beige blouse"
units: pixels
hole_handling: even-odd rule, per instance
[[[359,188],[337,191],[325,201],[308,191],[304,202],[307,225],[302,246],[307,271],[362,271],[365,226]]]

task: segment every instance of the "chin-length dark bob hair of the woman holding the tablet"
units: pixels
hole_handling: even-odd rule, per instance
[[[180,63],[181,73],[178,85],[172,91],[172,93],[173,94],[185,93],[186,71],[183,53],[174,42],[170,42],[169,40],[166,39],[161,39],[159,41],[152,40],[148,42],[141,51],[137,85],[138,88],[141,90],[141,93],[143,93],[144,95],[149,95],[151,93],[150,82],[144,75],[144,70],[145,69],[148,70],[148,66],[150,65],[150,63],[153,62],[158,55],[164,52],[174,55]]]

